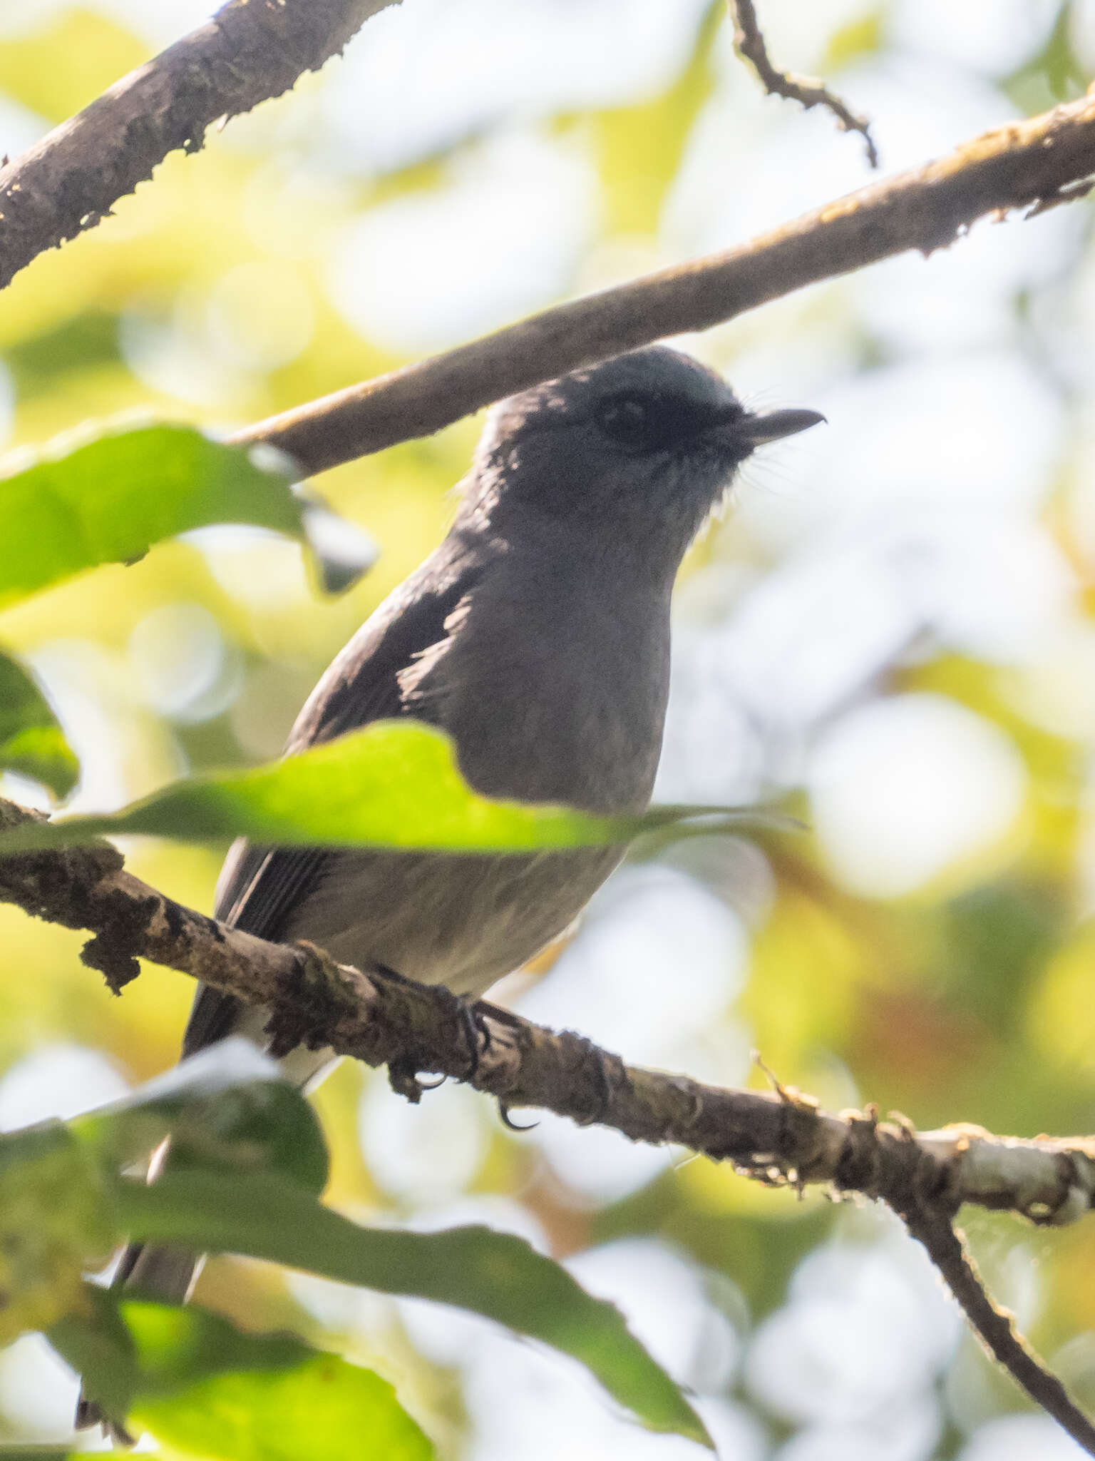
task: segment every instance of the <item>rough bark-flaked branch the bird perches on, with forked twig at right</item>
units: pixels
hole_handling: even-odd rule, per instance
[[[0,801],[0,830],[38,812]],[[572,1031],[553,1031],[444,988],[336,964],[308,944],[270,944],[203,918],[126,872],[101,844],[0,859],[0,901],[95,937],[82,958],[118,991],[137,958],[178,969],[270,1011],[274,1050],[298,1043],[388,1065],[420,1099],[418,1072],[467,1081],[502,1109],[539,1106],[632,1141],[676,1143],[771,1185],[825,1183],[880,1198],[927,1248],[971,1324],[1026,1392],[1095,1455],[1095,1429],[981,1287],[953,1230],[962,1202],[1034,1223],[1070,1223],[1095,1207],[1095,1140],[1022,1141],[980,1126],[917,1134],[873,1110],[821,1110],[812,1097],[729,1090],[626,1065]]]

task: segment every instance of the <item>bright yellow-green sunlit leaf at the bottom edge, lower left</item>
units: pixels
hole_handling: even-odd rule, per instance
[[[95,1297],[50,1331],[130,1429],[210,1461],[428,1461],[387,1381],[289,1335],[241,1334],[194,1306]]]

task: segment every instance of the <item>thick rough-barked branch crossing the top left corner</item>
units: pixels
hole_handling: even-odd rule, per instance
[[[158,162],[197,152],[206,127],[318,70],[394,0],[229,0],[0,169],[0,288],[93,228]]]

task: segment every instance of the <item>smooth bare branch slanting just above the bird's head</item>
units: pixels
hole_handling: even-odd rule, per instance
[[[918,248],[945,248],[986,215],[1070,197],[1095,172],[1095,92],[987,131],[937,162],[708,254],[529,316],[232,438],[269,441],[305,472],[429,435],[492,400],[682,330],[705,330],[804,285]]]

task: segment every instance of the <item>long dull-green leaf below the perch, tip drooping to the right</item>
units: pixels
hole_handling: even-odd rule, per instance
[[[123,1182],[118,1210],[140,1239],[248,1254],[381,1293],[458,1305],[581,1360],[653,1430],[710,1445],[679,1386],[628,1330],[524,1239],[488,1227],[409,1233],[358,1227],[274,1178],[166,1173],[152,1186]]]

